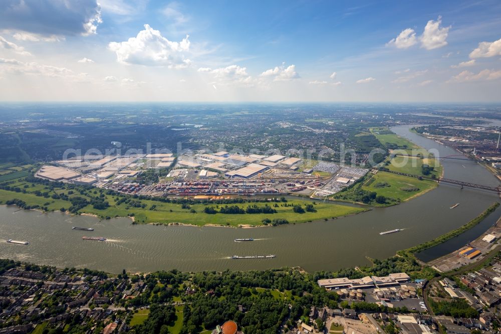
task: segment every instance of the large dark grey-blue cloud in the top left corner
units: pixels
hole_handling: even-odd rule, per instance
[[[0,29],[51,35],[91,35],[101,23],[96,0],[3,0]]]

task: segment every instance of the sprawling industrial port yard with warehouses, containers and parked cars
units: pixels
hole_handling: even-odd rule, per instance
[[[172,153],[124,156],[85,155],[43,165],[36,177],[93,185],[146,196],[232,196],[297,194],[323,198],[363,177],[368,169],[321,161],[300,172],[303,159],[285,155],[231,154],[226,151],[175,157]],[[311,165],[311,164],[310,164]],[[142,174],[167,171],[158,182]],[[324,173],[323,176],[315,172]]]

